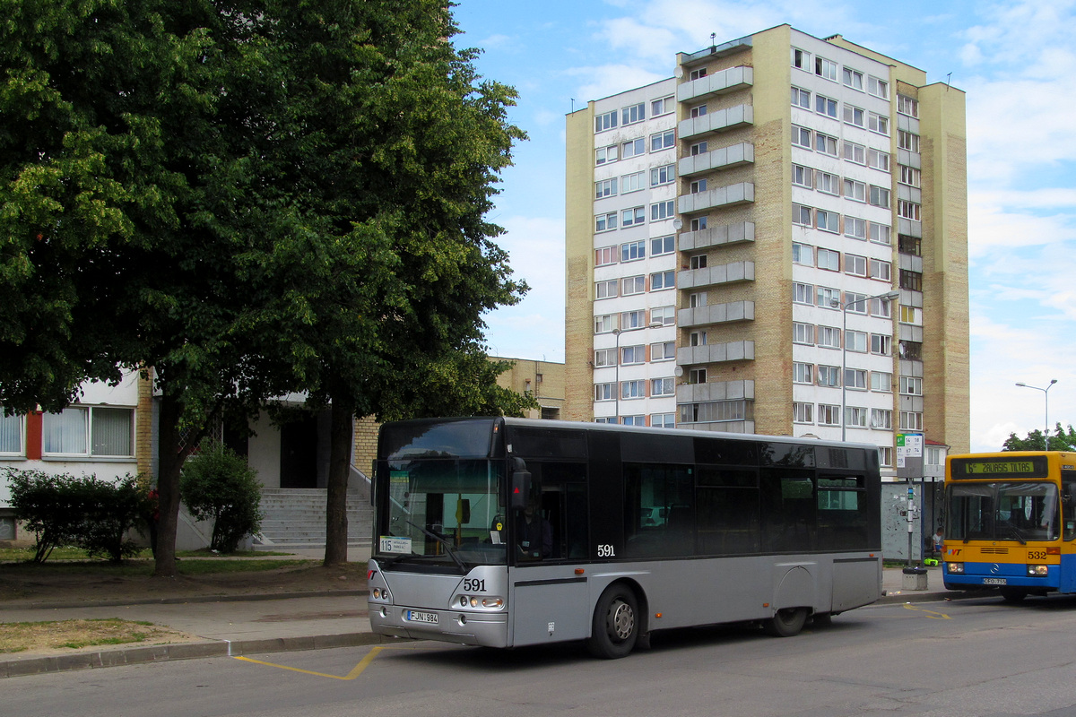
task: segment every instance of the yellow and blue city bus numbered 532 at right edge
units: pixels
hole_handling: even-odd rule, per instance
[[[946,460],[945,586],[996,587],[1009,602],[1076,592],[1076,453]]]

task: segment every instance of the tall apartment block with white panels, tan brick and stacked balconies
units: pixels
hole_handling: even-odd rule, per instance
[[[564,417],[966,450],[964,94],[787,25],[674,74],[567,118]]]

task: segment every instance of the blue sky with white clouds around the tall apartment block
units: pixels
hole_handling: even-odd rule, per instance
[[[1076,0],[837,3],[459,0],[459,46],[520,94],[526,130],[491,219],[532,286],[486,316],[490,353],[564,360],[564,117],[672,73],[694,52],[788,23],[967,92],[972,448],[1076,424]]]

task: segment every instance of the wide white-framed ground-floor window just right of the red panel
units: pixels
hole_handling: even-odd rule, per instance
[[[45,456],[130,458],[134,455],[134,410],[71,406],[42,417]]]

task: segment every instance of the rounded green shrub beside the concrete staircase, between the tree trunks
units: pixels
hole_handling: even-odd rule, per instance
[[[210,547],[221,553],[235,553],[261,527],[260,487],[254,469],[221,444],[203,444],[180,476],[183,502],[195,518],[213,521]]]

